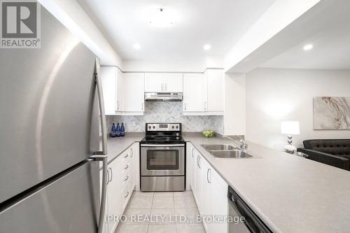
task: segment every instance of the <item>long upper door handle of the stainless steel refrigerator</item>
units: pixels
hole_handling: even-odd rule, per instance
[[[97,94],[99,96],[99,114],[101,115],[101,129],[102,129],[102,151],[97,151],[95,155],[107,155],[107,126],[106,115],[104,114],[104,94],[102,91],[102,82],[99,72],[99,58],[96,57],[95,62],[95,80],[97,86]]]

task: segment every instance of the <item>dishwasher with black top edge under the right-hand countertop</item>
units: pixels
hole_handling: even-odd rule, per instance
[[[234,219],[229,225],[230,233],[272,232],[230,186],[228,187],[228,201],[230,203],[230,217]]]

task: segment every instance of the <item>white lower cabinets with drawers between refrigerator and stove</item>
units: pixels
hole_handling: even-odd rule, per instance
[[[127,203],[134,191],[134,158],[137,155],[137,150],[134,150],[134,143],[127,148],[116,160],[108,164],[108,182],[107,182],[107,196],[106,196],[106,215],[104,223],[105,233],[113,233],[116,231],[118,225],[117,216],[121,216]],[[102,171],[100,173],[100,181],[102,183]]]

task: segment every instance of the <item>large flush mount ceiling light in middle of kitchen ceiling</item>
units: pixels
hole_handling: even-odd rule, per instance
[[[177,20],[177,15],[169,8],[152,7],[144,11],[144,19],[152,27],[172,27]]]

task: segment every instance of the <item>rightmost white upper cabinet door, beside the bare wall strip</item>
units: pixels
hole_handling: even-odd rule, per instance
[[[224,78],[222,69],[207,70],[207,111],[224,111]]]

